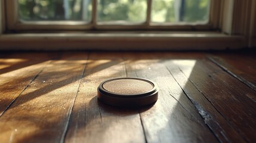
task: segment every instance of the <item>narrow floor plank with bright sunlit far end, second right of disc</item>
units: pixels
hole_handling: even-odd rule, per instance
[[[212,106],[211,102],[198,91],[195,85],[180,70],[179,65],[187,65],[186,70],[190,71],[190,76],[193,76],[193,74],[196,74],[193,71],[196,60],[165,61],[165,65],[181,88],[183,88],[187,97],[193,102],[206,125],[211,128],[221,142],[245,142],[236,130],[229,125],[229,122]]]

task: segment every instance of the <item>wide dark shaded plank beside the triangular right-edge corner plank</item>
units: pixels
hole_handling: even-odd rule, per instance
[[[181,71],[202,92],[245,141],[255,141],[255,91],[208,60],[198,60],[191,74],[178,64]]]

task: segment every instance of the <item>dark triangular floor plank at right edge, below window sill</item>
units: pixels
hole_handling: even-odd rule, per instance
[[[255,55],[211,54],[209,59],[256,91]]]

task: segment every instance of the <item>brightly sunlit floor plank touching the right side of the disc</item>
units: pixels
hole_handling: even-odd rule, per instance
[[[217,142],[162,60],[154,60],[161,56],[132,55],[134,60],[124,55],[128,76],[153,80],[160,87],[156,104],[140,110],[147,142]]]

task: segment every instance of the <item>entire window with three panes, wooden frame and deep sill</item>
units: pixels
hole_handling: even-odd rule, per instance
[[[0,4],[0,49],[183,50],[256,45],[255,1],[2,0]]]

